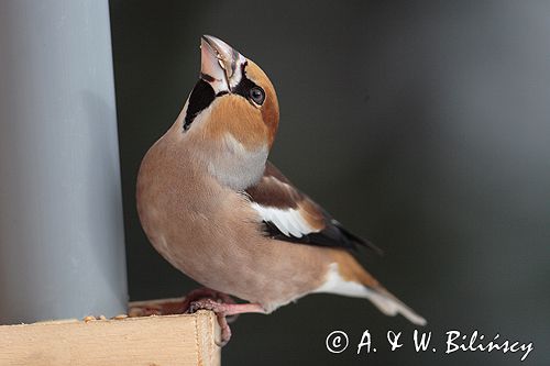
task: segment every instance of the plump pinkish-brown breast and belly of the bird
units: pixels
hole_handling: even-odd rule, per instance
[[[190,156],[165,136],[143,159],[138,211],[153,246],[204,286],[268,310],[319,287],[330,251],[264,236],[246,197]]]

